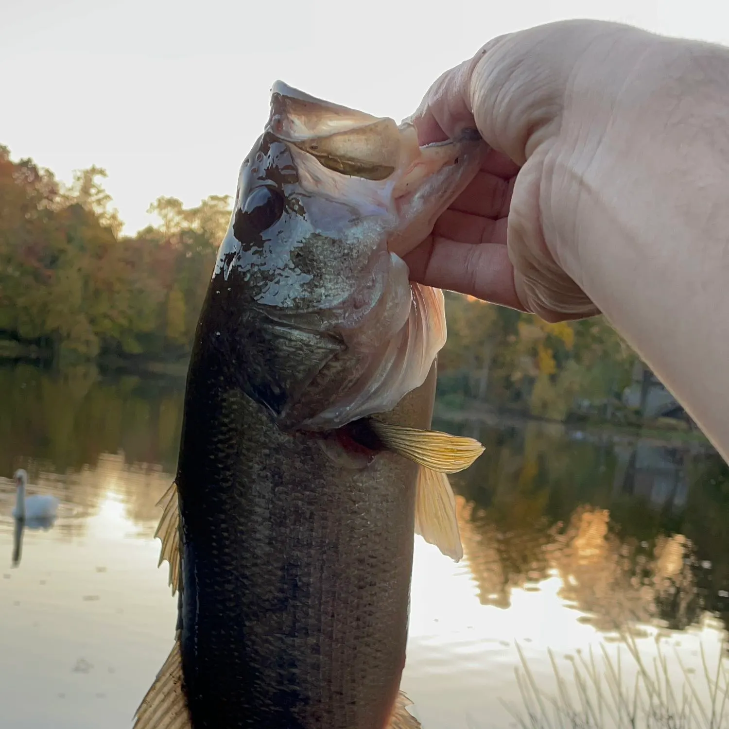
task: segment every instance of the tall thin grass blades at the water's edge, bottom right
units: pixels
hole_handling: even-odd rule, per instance
[[[602,660],[590,648],[588,657],[572,660],[572,676],[559,670],[549,652],[556,681],[556,693],[537,687],[526,658],[517,646],[521,668],[515,668],[523,706],[504,703],[521,729],[721,729],[729,727],[729,681],[720,653],[716,668],[709,670],[701,646],[703,695],[679,655],[679,686],[669,676],[669,663],[658,646],[652,666],[639,655],[633,636],[623,636],[635,679],[626,679],[620,650],[610,658],[601,646]],[[601,664],[601,666],[599,665]],[[700,672],[701,674],[701,672]]]

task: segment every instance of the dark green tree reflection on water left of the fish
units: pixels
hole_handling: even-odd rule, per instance
[[[0,475],[25,467],[36,483],[95,467],[102,453],[174,472],[182,418],[180,380],[102,376],[95,367],[49,375],[30,365],[0,367]],[[32,465],[28,467],[27,459]]]

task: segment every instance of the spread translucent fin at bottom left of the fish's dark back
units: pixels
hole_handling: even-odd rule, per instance
[[[134,729],[192,729],[182,687],[179,634],[157,678],[139,704]]]

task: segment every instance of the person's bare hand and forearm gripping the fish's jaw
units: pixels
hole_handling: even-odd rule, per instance
[[[729,49],[580,20],[494,39],[413,117],[477,178],[416,281],[547,321],[604,313],[729,457]]]

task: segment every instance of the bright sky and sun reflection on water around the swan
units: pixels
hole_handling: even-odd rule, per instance
[[[172,476],[121,453],[34,473],[61,501],[48,531],[11,520],[12,483],[0,485],[0,553],[19,566],[0,568],[0,725],[130,729],[174,636],[152,539]]]

